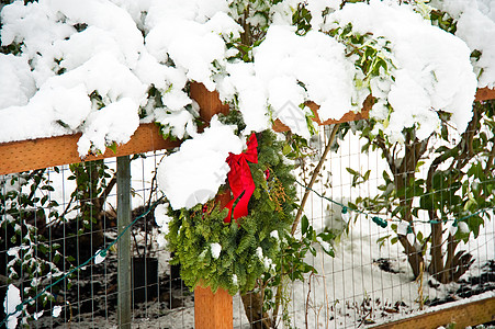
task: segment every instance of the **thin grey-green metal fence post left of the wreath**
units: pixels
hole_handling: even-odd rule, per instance
[[[117,230],[121,235],[131,224],[131,160],[128,156],[116,160]],[[117,325],[131,329],[131,231],[127,230],[117,243]]]

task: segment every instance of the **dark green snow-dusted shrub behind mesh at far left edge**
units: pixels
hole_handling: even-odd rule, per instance
[[[23,298],[33,297],[42,287],[40,277],[64,275],[58,268],[66,261],[58,251],[60,245],[40,234],[47,222],[58,217],[58,203],[49,197],[54,188],[43,169],[1,177],[0,191],[0,246],[8,253],[0,260],[0,274],[8,277],[8,283],[21,284]],[[49,292],[40,298],[42,304],[54,300]]]

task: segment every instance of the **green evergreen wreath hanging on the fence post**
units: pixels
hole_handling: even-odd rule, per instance
[[[222,287],[234,295],[246,293],[257,280],[280,272],[282,245],[290,236],[296,204],[293,166],[282,155],[283,143],[275,134],[256,134],[258,163],[249,162],[256,189],[249,201],[247,216],[224,223],[228,209],[218,200],[191,209],[168,207],[168,248],[181,265],[181,277],[194,288]],[[218,195],[228,193],[228,182]],[[234,205],[235,206],[235,205]]]

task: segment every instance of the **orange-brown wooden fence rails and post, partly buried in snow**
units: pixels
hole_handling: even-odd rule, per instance
[[[228,105],[222,104],[216,92],[209,92],[204,86],[200,83],[191,84],[191,98],[193,98],[200,105],[200,115],[209,122],[214,114],[228,112]],[[480,89],[476,93],[476,101],[485,101],[495,99],[495,90]],[[315,103],[307,103],[307,105],[315,113],[314,121],[319,125],[328,125],[335,123],[350,122],[357,120],[368,118],[368,112],[371,107],[372,99],[369,98],[363,104],[363,109],[360,113],[349,112],[342,118],[334,121],[329,120],[320,122],[317,115],[318,106]],[[273,125],[275,132],[284,132],[289,128],[284,126],[280,121],[277,121]],[[180,145],[180,141],[171,141],[162,138],[159,132],[159,127],[155,124],[143,124],[135,132],[131,140],[125,145],[116,147],[116,151],[108,149],[103,155],[88,156],[85,159],[80,159],[77,152],[77,141],[80,134],[58,136],[53,138],[40,138],[34,140],[22,140],[0,144],[0,174],[22,172],[26,170],[35,170],[42,168],[48,168],[54,166],[76,163],[80,161],[91,161],[95,159],[117,157],[117,171],[123,167],[128,166],[128,156],[134,154],[142,154],[147,151],[155,151],[161,149],[170,149]],[[119,182],[119,181],[117,181]],[[124,182],[124,183],[123,183]],[[122,192],[128,191],[128,186],[125,183],[125,177],[121,178],[117,185],[119,202],[128,203],[128,195],[122,198]],[[123,184],[123,185],[122,185]],[[124,193],[125,194],[125,193]],[[128,194],[128,193],[127,193]],[[122,207],[119,207],[122,208]],[[127,214],[128,215],[128,214]],[[119,220],[127,216],[119,216]],[[128,219],[128,218],[127,218]],[[119,223],[117,226],[125,226],[125,223]],[[125,259],[125,262],[120,264],[119,271],[124,271],[130,266],[130,253],[125,252],[124,248],[128,248],[124,237],[123,242],[119,243],[119,258]],[[127,241],[128,242],[128,241]],[[128,273],[128,272],[127,272]],[[127,275],[128,276],[128,275]],[[130,328],[130,318],[126,314],[131,314],[131,291],[128,290],[128,280],[120,276],[122,282],[119,290],[119,325],[121,328]],[[120,280],[121,280],[120,279]],[[121,283],[121,281],[119,281]],[[127,287],[127,288],[125,288]],[[225,291],[218,291],[213,294],[207,287],[196,287],[195,290],[195,327],[203,328],[232,328],[233,327],[233,307],[232,296]],[[474,316],[476,315],[476,316]],[[440,325],[449,322],[457,322],[460,326],[477,325],[491,320],[495,320],[495,297],[487,300],[480,300],[473,304],[459,306],[452,309],[445,309],[437,313],[424,314],[410,319],[401,320],[397,322],[391,322],[379,326],[376,328],[436,328]]]

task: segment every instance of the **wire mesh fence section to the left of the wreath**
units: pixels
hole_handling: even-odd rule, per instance
[[[131,161],[133,262],[126,274],[133,282],[132,319],[139,324],[168,314],[156,328],[188,328],[192,294],[168,265],[170,254],[153,216],[159,198],[154,174],[161,157],[148,154]],[[115,171],[113,159],[2,177],[1,299],[8,284],[20,288],[21,299],[27,300],[21,322],[33,328],[115,326]]]

